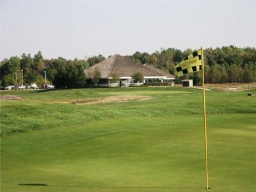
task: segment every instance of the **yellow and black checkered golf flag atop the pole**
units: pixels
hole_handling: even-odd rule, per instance
[[[177,77],[202,70],[202,49],[191,53],[175,66]]]

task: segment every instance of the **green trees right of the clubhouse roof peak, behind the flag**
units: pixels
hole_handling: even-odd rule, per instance
[[[135,52],[127,55],[132,61],[140,64],[152,64],[170,74],[176,74],[175,65],[195,50],[168,48],[152,54]],[[223,46],[222,48],[204,49],[205,82],[206,83],[252,83],[256,81],[256,49]],[[195,84],[201,84],[201,71],[177,78],[181,81],[192,78]]]

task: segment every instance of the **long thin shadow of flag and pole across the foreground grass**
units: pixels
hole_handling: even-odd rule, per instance
[[[43,183],[28,183],[28,184],[18,184],[18,185],[26,185],[26,186],[45,186],[45,187],[81,187],[81,188],[161,188],[161,189],[202,189],[199,187],[132,187],[132,186],[86,186],[86,185],[48,185],[48,184],[43,184]]]

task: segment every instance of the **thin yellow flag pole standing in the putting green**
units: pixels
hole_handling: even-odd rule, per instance
[[[206,108],[205,108],[205,88],[204,88],[204,50],[202,51],[202,97],[204,103],[204,141],[205,141],[205,178],[206,178],[206,188],[209,189],[208,180],[208,150],[207,150],[207,121],[206,121]]]

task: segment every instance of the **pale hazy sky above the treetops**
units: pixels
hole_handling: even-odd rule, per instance
[[[1,1],[0,59],[256,46],[256,1]]]

